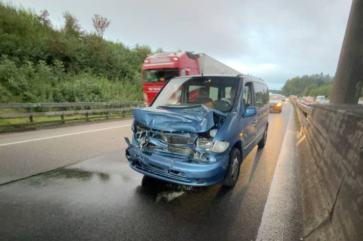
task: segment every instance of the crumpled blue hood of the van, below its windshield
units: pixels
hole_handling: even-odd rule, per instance
[[[204,105],[134,108],[132,114],[138,123],[157,130],[197,133],[214,126],[213,110]]]

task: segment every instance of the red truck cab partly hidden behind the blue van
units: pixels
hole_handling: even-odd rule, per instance
[[[147,105],[171,78],[199,74],[198,56],[187,51],[161,52],[148,56],[142,66]]]

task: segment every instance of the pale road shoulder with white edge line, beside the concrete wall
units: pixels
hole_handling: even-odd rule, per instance
[[[292,109],[256,240],[299,240],[302,237],[297,131],[293,115]]]

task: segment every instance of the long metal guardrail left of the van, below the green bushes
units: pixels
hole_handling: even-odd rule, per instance
[[[101,109],[95,109],[97,106],[102,106]],[[134,102],[74,102],[74,103],[4,103],[0,104],[0,109],[24,109],[26,112],[17,113],[7,113],[0,114],[0,119],[14,119],[14,118],[29,118],[30,122],[14,123],[14,124],[3,124],[0,127],[7,126],[25,126],[41,123],[51,123],[51,122],[62,122],[65,121],[75,121],[75,120],[86,120],[94,118],[106,118],[131,115],[131,109],[133,107],[144,106],[144,102],[134,101]],[[58,109],[56,111],[46,111],[43,109]],[[78,110],[67,110],[67,109],[78,109]],[[34,109],[40,110],[39,112],[34,111]],[[83,109],[83,110],[79,110]],[[84,115],[84,118],[71,118],[66,119],[66,115]],[[91,114],[91,116],[89,116]],[[102,114],[95,115],[94,114]],[[34,121],[33,117],[47,117],[47,116],[60,116],[59,120],[48,120],[48,121]]]

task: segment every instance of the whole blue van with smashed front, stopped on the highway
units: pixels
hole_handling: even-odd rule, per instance
[[[132,110],[130,167],[178,184],[234,186],[244,157],[267,138],[267,85],[245,75],[170,79],[149,107]]]

